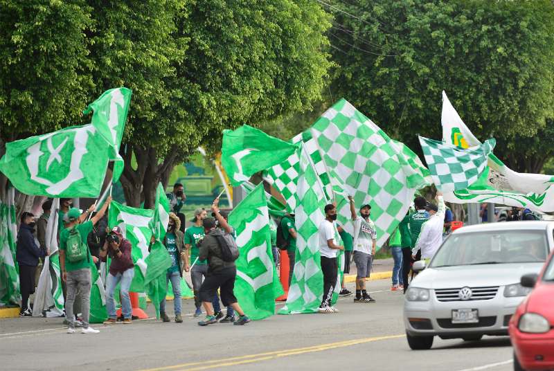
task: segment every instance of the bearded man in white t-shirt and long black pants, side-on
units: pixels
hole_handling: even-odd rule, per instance
[[[325,220],[319,225],[319,253],[321,254],[321,271],[323,271],[323,298],[319,306],[320,313],[336,313],[338,310],[331,306],[334,285],[337,284],[339,274],[337,265],[337,254],[344,250],[343,246],[337,245],[334,239],[337,220],[337,208],[334,205],[325,206]]]

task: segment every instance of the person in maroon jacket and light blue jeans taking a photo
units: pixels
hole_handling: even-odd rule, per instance
[[[106,282],[106,309],[108,319],[105,325],[116,323],[116,303],[114,301],[114,290],[117,284],[120,284],[121,296],[121,314],[123,314],[123,323],[132,323],[132,307],[129,298],[129,287],[134,277],[134,264],[131,257],[131,243],[123,238],[121,229],[114,227],[109,235],[106,236],[106,242],[100,249],[100,261],[105,262],[107,256],[110,257],[109,273]]]

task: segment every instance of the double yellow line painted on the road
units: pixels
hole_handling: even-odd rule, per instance
[[[274,352],[265,352],[258,354],[248,354],[246,356],[236,356],[226,359],[214,359],[212,361],[200,361],[193,363],[181,363],[179,365],[171,365],[161,368],[150,368],[143,371],[162,371],[162,370],[186,370],[186,371],[199,371],[208,370],[210,368],[221,368],[233,365],[243,365],[245,363],[254,363],[260,361],[267,361],[269,359],[276,359],[285,356],[294,356],[297,354],[311,353],[311,352],[323,352],[324,350],[330,350],[338,347],[348,347],[351,345],[358,345],[364,343],[370,343],[373,341],[382,341],[395,338],[404,338],[406,335],[389,335],[389,336],[376,336],[373,338],[359,338],[355,340],[339,341],[337,343],[327,343],[312,345],[311,347],[301,347],[296,349],[277,350]],[[192,367],[191,366],[199,366]]]

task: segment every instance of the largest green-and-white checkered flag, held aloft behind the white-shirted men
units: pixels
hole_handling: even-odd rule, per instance
[[[377,249],[413,201],[415,191],[429,185],[431,177],[418,156],[403,143],[393,141],[375,123],[345,99],[339,100],[310,127],[323,166],[335,194],[338,221],[354,235],[347,195],[357,206],[371,206],[377,229]],[[342,192],[337,192],[340,188]]]

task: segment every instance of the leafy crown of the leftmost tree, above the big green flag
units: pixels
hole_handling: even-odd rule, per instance
[[[79,123],[90,24],[82,1],[0,1],[0,156],[6,142]],[[0,197],[6,184],[0,174]]]

